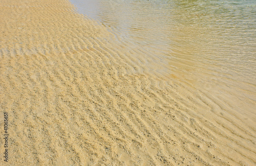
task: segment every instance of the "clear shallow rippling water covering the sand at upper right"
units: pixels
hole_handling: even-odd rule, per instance
[[[71,2],[121,40],[163,57],[170,79],[254,115],[255,1]]]

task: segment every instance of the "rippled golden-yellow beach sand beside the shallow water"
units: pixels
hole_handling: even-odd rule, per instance
[[[1,1],[0,18],[0,165],[256,165],[251,107],[184,84],[69,1]]]

